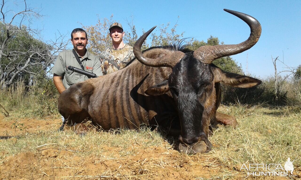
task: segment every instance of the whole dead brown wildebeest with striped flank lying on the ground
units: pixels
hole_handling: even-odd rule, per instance
[[[250,88],[260,80],[225,72],[212,62],[250,49],[261,34],[259,22],[244,13],[226,10],[244,20],[250,37],[233,45],[201,46],[195,51],[185,46],[152,47],[141,52],[141,45],[153,27],[135,43],[134,58],[125,68],[65,90],[59,100],[59,112],[77,134],[87,131],[86,118],[101,126],[137,129],[141,124],[170,123],[180,129],[179,150],[187,154],[210,151],[210,122],[237,125],[233,116],[218,113],[221,102],[220,82]],[[78,124],[76,124],[78,123]]]

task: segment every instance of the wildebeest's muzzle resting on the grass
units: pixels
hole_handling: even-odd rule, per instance
[[[199,141],[199,142],[193,143],[192,145],[182,144],[180,142],[179,151],[185,152],[188,155],[194,155],[196,153],[209,152],[211,150],[211,147],[212,147],[212,145],[209,141],[207,144],[205,143],[205,141]]]

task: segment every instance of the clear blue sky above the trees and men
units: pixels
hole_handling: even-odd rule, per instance
[[[18,8],[23,7],[22,1]],[[255,17],[262,26],[258,43],[251,49],[231,56],[243,70],[257,77],[274,73],[271,60],[279,56],[291,67],[301,64],[301,1],[67,1],[27,0],[30,7],[39,7],[45,15],[33,26],[42,29],[44,40],[55,38],[55,33],[70,33],[74,28],[95,25],[98,16],[119,21],[128,29],[125,19],[134,16],[138,36],[142,29],[178,20],[177,32],[185,32],[184,38],[207,41],[210,35],[218,37],[225,44],[238,44],[245,41],[250,29],[239,18],[225,12],[231,9]],[[16,8],[13,4],[10,7]],[[97,16],[98,15],[98,16]],[[178,19],[177,17],[180,16]],[[69,37],[69,35],[68,35]],[[247,67],[248,59],[248,67]],[[278,70],[285,70],[278,62]],[[281,75],[285,75],[282,73]]]

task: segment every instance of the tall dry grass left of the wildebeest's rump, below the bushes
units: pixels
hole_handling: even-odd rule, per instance
[[[49,83],[51,83],[49,85]],[[6,111],[18,118],[22,117],[59,117],[57,111],[58,92],[53,87],[52,81],[44,83],[45,87],[25,86],[23,81],[13,83],[9,88],[0,88],[0,114],[6,115]],[[4,110],[4,109],[6,110]]]

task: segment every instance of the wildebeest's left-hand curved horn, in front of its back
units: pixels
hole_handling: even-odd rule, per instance
[[[134,44],[133,46],[133,52],[136,56],[136,58],[138,59],[138,61],[140,61],[142,64],[145,64],[147,66],[151,66],[151,67],[174,67],[174,65],[176,63],[178,63],[178,61],[184,57],[184,52],[181,51],[175,51],[170,55],[165,55],[161,58],[156,58],[156,59],[152,59],[152,58],[146,58],[143,56],[142,52],[141,52],[141,46],[143,44],[143,42],[145,41],[145,39],[147,38],[148,35],[151,34],[151,32],[156,28],[157,26],[154,26],[153,28],[151,28],[150,30],[148,30],[146,33],[144,33],[144,35],[142,35]]]

